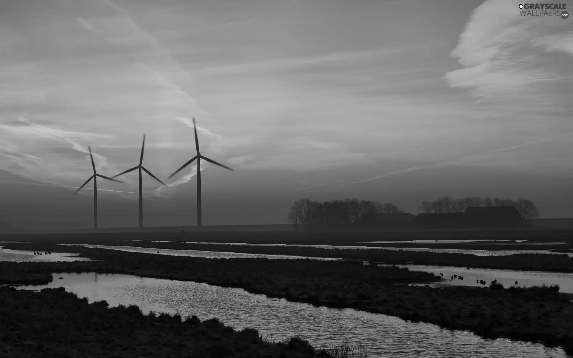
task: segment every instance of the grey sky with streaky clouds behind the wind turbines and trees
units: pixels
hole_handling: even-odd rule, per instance
[[[194,224],[196,167],[167,176],[195,155],[195,117],[202,154],[235,169],[202,163],[207,225],[347,196],[413,213],[442,195],[524,197],[571,217],[573,22],[517,5],[3,1],[0,180],[16,183],[0,182],[2,201],[34,186],[49,207],[56,188],[36,184],[80,186],[88,145],[103,175],[134,167],[145,132],[143,164],[168,183],[144,178],[146,222]],[[138,177],[123,178],[98,181],[116,191],[100,209],[122,208],[103,226],[136,223]],[[93,191],[57,192],[91,220]]]

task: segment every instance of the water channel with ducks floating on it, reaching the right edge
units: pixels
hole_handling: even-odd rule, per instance
[[[391,266],[378,264],[379,266]],[[509,286],[541,286],[559,285],[559,292],[573,293],[573,273],[560,272],[540,272],[540,271],[514,271],[496,269],[466,269],[466,267],[455,266],[432,266],[432,265],[396,265],[398,267],[408,267],[412,271],[426,271],[438,275],[444,274],[446,280],[432,283],[430,286],[457,285],[457,286],[483,286],[476,283],[476,280],[484,280],[486,286],[490,282],[497,280],[505,287]],[[464,280],[451,277],[456,274],[463,276]],[[517,285],[515,285],[517,281]]]

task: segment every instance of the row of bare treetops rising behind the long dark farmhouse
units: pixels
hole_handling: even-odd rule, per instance
[[[466,196],[466,198],[453,199],[450,196],[442,196],[431,202],[424,201],[418,205],[418,210],[426,214],[438,213],[464,213],[469,207],[477,206],[515,206],[524,219],[539,217],[537,206],[529,199],[491,199],[489,196]]]

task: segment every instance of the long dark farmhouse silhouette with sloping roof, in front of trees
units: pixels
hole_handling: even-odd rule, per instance
[[[524,227],[523,217],[515,206],[470,207],[465,213],[419,214],[415,226],[423,228],[471,227],[511,228]]]

